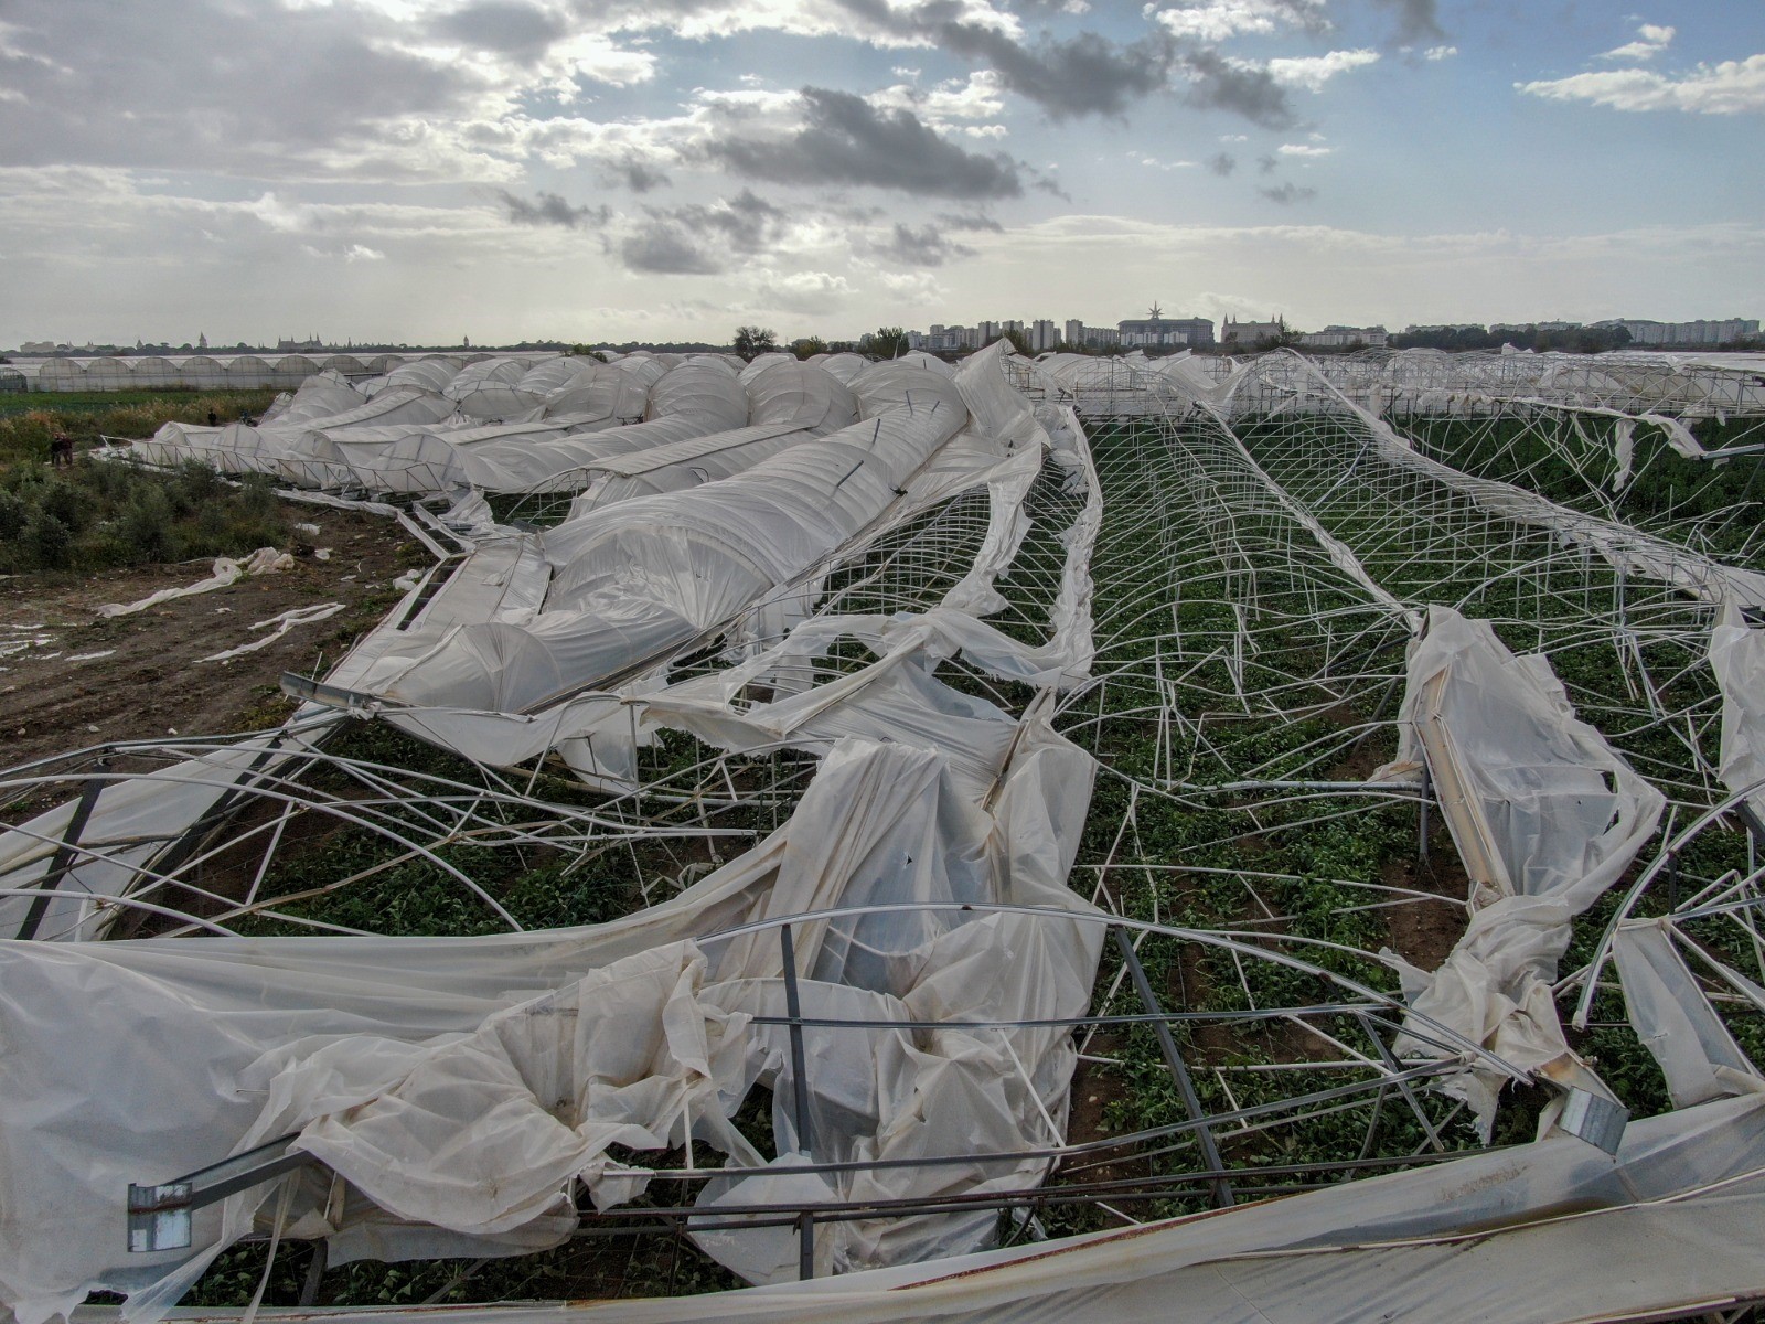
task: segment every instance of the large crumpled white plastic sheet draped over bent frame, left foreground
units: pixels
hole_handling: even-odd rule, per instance
[[[674,900],[593,929],[0,944],[0,1031],[18,1100],[0,1112],[0,1151],[14,1156],[0,1172],[0,1227],[14,1248],[0,1264],[0,1301],[39,1324],[108,1287],[136,1294],[131,1315],[155,1315],[268,1197],[259,1188],[201,1211],[192,1252],[131,1257],[120,1237],[127,1181],[164,1179],[288,1130],[351,1183],[337,1225],[323,1223],[323,1181],[302,1185],[289,1209],[297,1234],[328,1236],[334,1264],[552,1245],[574,1225],[558,1195],[574,1176],[590,1176],[604,1199],[642,1186],[641,1174],[602,1162],[605,1144],[678,1142],[690,1126],[738,1149],[724,1119],[748,1082],[784,1070],[777,1036],[747,1033],[743,1020],[777,1001],[777,932],[713,934],[890,900],[1087,909],[1063,881],[1091,768],[1033,720],[981,810],[943,756],[845,741],[778,833]],[[800,923],[798,959],[810,999],[898,999],[950,1020],[1077,1015],[1100,932],[1057,914],[881,913]],[[118,1004],[132,1008],[127,1024]],[[579,1034],[584,1012],[605,1033]],[[85,1052],[65,1052],[71,1017]],[[944,1155],[951,1163],[900,1169],[895,1193],[916,1183],[978,1190],[1013,1165],[974,1156],[1024,1147],[1025,1135],[1040,1142],[1041,1109],[1059,1109],[1073,1064],[1064,1033],[1010,1036],[1027,1075],[1003,1075],[1010,1054],[957,1029],[918,1036],[881,1082],[870,1064],[814,1059],[817,1116],[842,1109],[847,1121],[868,1116],[870,1130],[812,1137],[808,1153],[868,1144]],[[997,1107],[964,1114],[962,1102],[981,1095]],[[854,1114],[865,1098],[874,1114]],[[902,1246],[955,1253],[985,1245],[987,1223],[858,1223],[828,1253],[851,1266]],[[768,1259],[748,1234],[720,1246],[750,1268]]]

